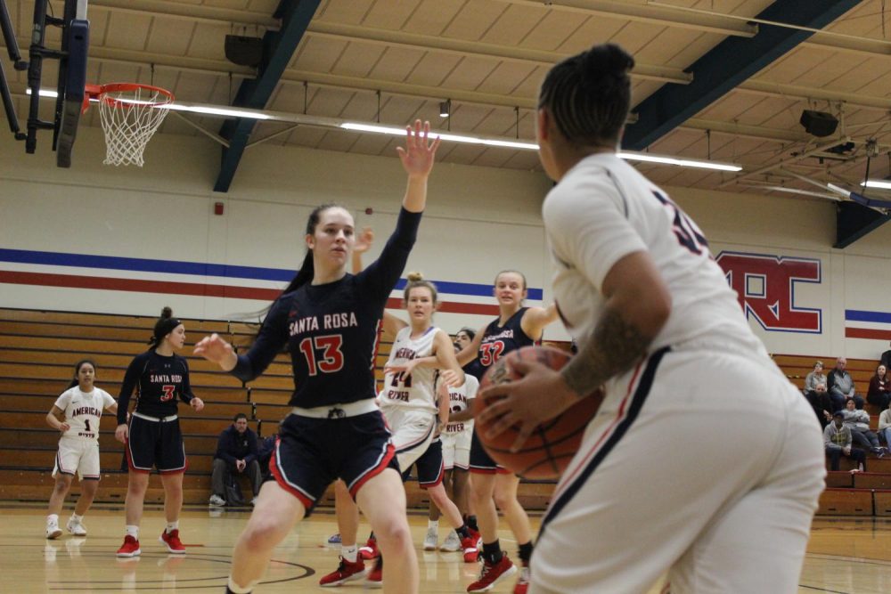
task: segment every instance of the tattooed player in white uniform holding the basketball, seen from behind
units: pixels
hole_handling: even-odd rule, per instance
[[[505,398],[478,421],[494,435],[519,423],[519,447],[606,390],[543,519],[531,591],[642,592],[667,570],[675,594],[796,592],[825,476],[820,427],[696,224],[617,158],[633,66],[598,45],[544,79],[536,132],[557,182],[544,226],[579,353],[560,371],[516,366],[525,377],[486,389]]]

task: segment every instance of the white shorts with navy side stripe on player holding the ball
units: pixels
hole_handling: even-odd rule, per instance
[[[530,592],[797,592],[826,476],[772,362],[660,350],[615,382],[560,478]]]

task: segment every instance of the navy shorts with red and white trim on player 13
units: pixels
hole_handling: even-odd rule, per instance
[[[399,471],[380,411],[339,419],[290,414],[269,460],[272,478],[303,503],[307,515],[334,480],[343,479],[356,499],[365,482],[385,468]]]

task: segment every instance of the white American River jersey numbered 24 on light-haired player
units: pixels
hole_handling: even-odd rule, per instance
[[[390,349],[388,365],[401,365],[413,359],[429,357],[433,354],[433,339],[439,329],[431,326],[420,337],[412,338],[412,327],[406,326],[396,333]],[[388,373],[384,376],[384,387],[380,390],[380,406],[401,406],[404,408],[430,411],[436,414],[436,394],[434,379],[436,370],[432,367],[415,367],[412,375],[404,378],[401,373]]]

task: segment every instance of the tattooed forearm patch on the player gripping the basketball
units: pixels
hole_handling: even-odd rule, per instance
[[[608,307],[587,344],[563,368],[563,379],[576,394],[590,395],[607,379],[630,370],[646,354],[651,340]]]

